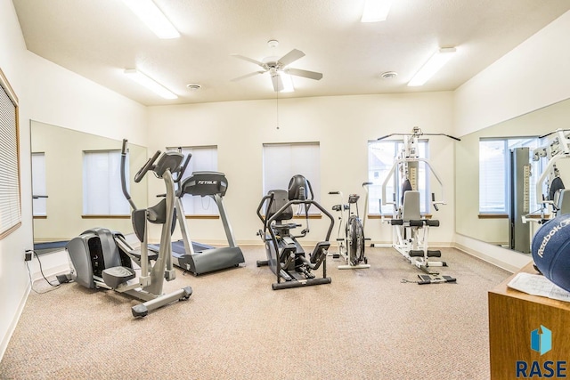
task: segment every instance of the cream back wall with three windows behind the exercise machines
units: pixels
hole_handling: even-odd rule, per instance
[[[164,150],[166,146],[217,145],[218,170],[227,175],[229,182],[224,202],[235,237],[241,243],[260,243],[256,231],[262,225],[256,208],[263,197],[263,143],[320,141],[322,206],[330,210],[338,203],[337,198],[328,195],[331,190],[364,195],[367,141],[388,133],[409,133],[414,125],[425,133],[452,131],[450,92],[280,99],[279,129],[276,109],[275,100],[149,109],[149,151]],[[453,166],[449,165],[453,162],[453,141],[432,137],[430,159],[446,185],[448,201],[436,214],[441,227],[432,230],[430,240],[449,243],[454,225]],[[151,182],[149,197],[163,192],[163,187],[158,181]],[[188,223],[192,236],[210,242],[224,240],[217,220],[191,219]],[[305,240],[324,239],[327,227],[325,219],[311,221],[311,235]],[[381,226],[379,219],[367,222],[366,228],[373,241],[392,239],[391,229],[387,224]],[[152,239],[158,239],[158,231]]]

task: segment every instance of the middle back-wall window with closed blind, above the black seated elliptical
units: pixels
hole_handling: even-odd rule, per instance
[[[304,175],[311,182],[314,200],[321,200],[321,153],[318,142],[264,144],[263,194],[269,190],[288,190],[291,177]],[[308,194],[308,193],[307,193]],[[310,214],[319,214],[316,207]]]

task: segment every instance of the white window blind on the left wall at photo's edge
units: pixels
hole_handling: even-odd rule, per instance
[[[0,70],[0,238],[21,224],[18,100]]]

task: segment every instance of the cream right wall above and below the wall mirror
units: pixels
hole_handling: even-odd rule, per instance
[[[570,12],[542,28],[454,93],[454,131],[464,135],[570,98]],[[457,234],[472,253],[517,269],[528,256]],[[520,260],[523,257],[525,260]]]

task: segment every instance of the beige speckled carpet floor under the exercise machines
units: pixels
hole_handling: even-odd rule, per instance
[[[143,319],[113,291],[31,292],[0,378],[489,378],[487,291],[507,271],[445,248],[442,272],[457,283],[420,286],[402,280],[421,271],[375,247],[371,269],[340,271],[330,258],[331,284],[273,291],[273,273],[256,267],[263,247],[242,249],[243,267],[177,271],[165,290],[190,285],[191,298]]]

